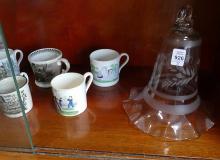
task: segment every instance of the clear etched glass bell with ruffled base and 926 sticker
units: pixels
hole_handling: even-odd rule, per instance
[[[143,132],[172,140],[193,139],[214,123],[201,111],[198,69],[201,38],[192,8],[183,7],[164,39],[148,85],[132,89],[124,109]]]

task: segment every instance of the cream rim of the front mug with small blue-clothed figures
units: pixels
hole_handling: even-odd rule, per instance
[[[79,84],[77,84],[76,86],[73,86],[71,88],[58,88],[57,85],[55,85],[54,83],[56,83],[56,81],[58,81],[58,79],[62,79],[64,80],[65,79],[65,75],[74,75],[74,76],[78,76],[81,78],[81,82]],[[55,76],[51,82],[50,82],[50,85],[51,85],[51,88],[56,90],[56,91],[69,91],[69,90],[72,90],[72,89],[76,89],[78,87],[80,87],[85,81],[85,78],[82,74],[80,73],[76,73],[76,72],[67,72],[67,73],[62,73],[62,74],[59,74],[57,76]]]

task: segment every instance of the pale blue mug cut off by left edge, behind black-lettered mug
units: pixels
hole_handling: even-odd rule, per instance
[[[12,61],[13,69],[15,75],[20,74],[20,63],[23,59],[23,52],[19,49],[8,49],[10,54],[10,59]],[[12,76],[12,71],[9,65],[9,61],[7,59],[5,49],[0,49],[0,80],[5,77]]]

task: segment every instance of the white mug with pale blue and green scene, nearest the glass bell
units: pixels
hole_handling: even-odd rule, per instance
[[[126,60],[120,65],[122,57]],[[94,76],[93,83],[100,87],[109,87],[119,81],[121,69],[128,63],[127,53],[119,54],[112,49],[99,49],[90,54],[91,71]]]

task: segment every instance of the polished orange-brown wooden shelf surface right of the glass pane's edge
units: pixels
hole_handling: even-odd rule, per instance
[[[78,69],[85,73],[86,69]],[[142,133],[128,120],[122,101],[134,86],[147,84],[151,70],[126,68],[113,87],[94,85],[88,91],[88,108],[77,117],[63,117],[56,112],[51,89],[42,89],[31,80],[34,108],[28,113],[37,154],[72,158],[165,159],[220,158],[220,126],[191,141],[165,141]],[[201,88],[201,94],[206,87]],[[212,92],[215,97],[209,98]],[[205,99],[217,106],[219,89],[205,93]],[[217,115],[217,114],[216,114]],[[7,153],[5,153],[7,157]],[[52,159],[52,158],[51,158]]]

